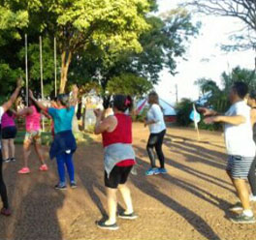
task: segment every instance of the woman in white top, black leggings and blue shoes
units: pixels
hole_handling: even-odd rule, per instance
[[[166,134],[166,125],[164,113],[159,105],[157,93],[151,92],[148,95],[147,103],[149,109],[144,120],[144,126],[149,128],[149,138],[147,140],[146,150],[150,160],[151,167],[145,172],[147,176],[159,173],[167,173],[165,168],[165,156],[162,150],[164,136]],[[160,167],[156,167],[154,149],[160,161]]]

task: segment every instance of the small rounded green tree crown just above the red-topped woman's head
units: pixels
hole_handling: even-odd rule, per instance
[[[112,94],[125,94],[134,97],[142,97],[152,89],[151,82],[144,77],[133,74],[114,76],[108,82],[107,91]]]

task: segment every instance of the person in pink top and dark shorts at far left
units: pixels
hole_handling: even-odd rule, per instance
[[[2,116],[2,143],[3,143],[3,162],[9,163],[16,161],[16,115],[12,110],[8,110]],[[10,148],[10,152],[9,152]]]

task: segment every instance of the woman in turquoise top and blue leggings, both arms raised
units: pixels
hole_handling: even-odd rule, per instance
[[[73,87],[73,99],[70,101],[69,95],[60,94],[57,97],[58,108],[47,107],[35,100],[30,91],[30,98],[52,117],[54,122],[54,139],[51,143],[50,159],[56,158],[59,174],[59,183],[55,189],[66,190],[65,165],[70,177],[71,188],[77,188],[75,181],[75,169],[73,164],[73,154],[77,149],[76,139],[72,133],[72,120],[75,115],[75,105],[77,104],[78,87]]]

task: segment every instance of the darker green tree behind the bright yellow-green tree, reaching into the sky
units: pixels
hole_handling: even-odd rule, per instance
[[[185,54],[189,38],[197,35],[199,24],[192,24],[191,15],[180,9],[161,17],[148,15],[146,22],[150,28],[139,39],[144,49],[142,52],[106,54],[106,51],[92,46],[74,59],[70,79],[81,83],[95,80],[105,92],[112,79],[120,75],[144,77],[152,84],[158,82],[164,68],[175,75],[176,61]]]

